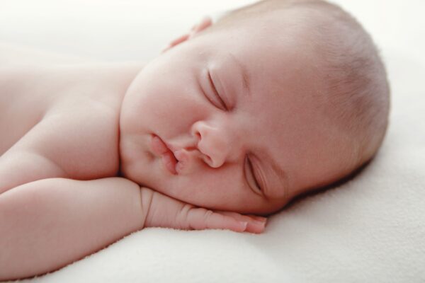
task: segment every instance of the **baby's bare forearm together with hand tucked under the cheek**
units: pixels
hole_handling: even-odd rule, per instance
[[[37,180],[0,195],[0,281],[57,270],[147,226],[260,233],[264,220],[194,207],[124,178]]]

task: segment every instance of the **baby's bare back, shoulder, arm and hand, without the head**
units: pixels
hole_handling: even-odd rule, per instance
[[[140,64],[22,54],[0,51],[0,280],[57,270],[149,226],[263,231],[262,217],[120,177],[120,107]]]

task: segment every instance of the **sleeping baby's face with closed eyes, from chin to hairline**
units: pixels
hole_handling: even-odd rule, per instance
[[[200,207],[256,214],[339,178],[327,158],[338,141],[302,46],[247,23],[147,64],[123,101],[123,175]]]

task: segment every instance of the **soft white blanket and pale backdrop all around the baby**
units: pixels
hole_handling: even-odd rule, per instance
[[[0,41],[142,60],[208,11],[232,8],[120,2],[2,1]],[[261,235],[144,229],[24,282],[425,282],[425,3],[337,3],[377,40],[392,88],[390,127],[369,166],[271,216]]]

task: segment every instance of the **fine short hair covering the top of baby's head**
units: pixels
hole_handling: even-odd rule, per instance
[[[356,170],[378,151],[388,124],[390,87],[377,47],[355,18],[322,0],[259,1],[226,13],[210,31],[245,21],[261,27],[263,17],[271,13],[280,13],[283,33],[302,38],[300,52],[313,54],[309,67],[325,82],[325,91],[314,96],[326,105],[323,113],[329,122],[346,137],[347,143],[341,144],[348,146],[346,174]],[[336,149],[333,157],[338,155]]]

